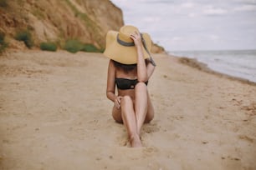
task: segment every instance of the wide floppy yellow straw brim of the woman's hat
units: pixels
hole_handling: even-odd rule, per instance
[[[104,55],[109,57],[116,62],[120,62],[123,64],[135,64],[137,62],[137,51],[136,47],[126,47],[120,45],[119,42],[116,41],[116,37],[118,32],[109,31],[106,35],[106,47]],[[145,39],[146,47],[148,51],[151,51],[151,37],[147,33],[142,33],[142,37]],[[144,58],[150,57],[146,52],[146,49],[143,47],[143,55]]]

